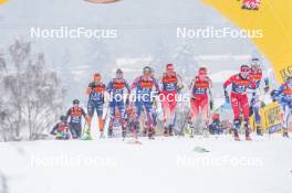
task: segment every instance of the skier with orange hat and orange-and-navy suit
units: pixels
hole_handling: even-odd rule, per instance
[[[101,74],[96,73],[93,76],[93,82],[90,83],[87,87],[88,104],[87,104],[87,114],[88,114],[88,129],[91,129],[92,117],[94,111],[97,114],[98,118],[98,128],[101,132],[101,138],[104,137],[104,120],[103,120],[103,106],[104,106],[104,95],[106,86],[102,83]],[[90,130],[88,130],[88,137]]]

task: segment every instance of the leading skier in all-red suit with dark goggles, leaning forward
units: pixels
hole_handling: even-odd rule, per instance
[[[234,114],[234,140],[240,140],[238,131],[241,126],[240,110],[243,114],[244,129],[246,129],[246,140],[251,140],[250,129],[249,129],[249,99],[247,89],[249,87],[255,88],[255,83],[250,78],[250,67],[248,65],[241,65],[240,73],[231,76],[223,83],[226,101],[230,103]],[[227,87],[231,85],[231,94],[227,92]],[[252,94],[254,95],[254,93]]]

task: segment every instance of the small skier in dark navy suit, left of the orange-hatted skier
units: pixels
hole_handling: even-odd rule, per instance
[[[87,115],[85,114],[84,109],[80,107],[80,100],[73,100],[73,107],[71,107],[66,112],[66,122],[70,118],[70,131],[73,139],[81,138],[82,129],[82,116],[87,120]]]

